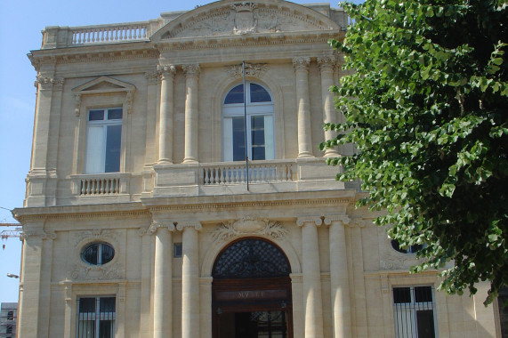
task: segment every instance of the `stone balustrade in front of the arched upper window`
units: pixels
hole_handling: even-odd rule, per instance
[[[249,182],[294,181],[294,161],[249,162]],[[222,163],[206,165],[202,168],[204,185],[245,183],[247,171],[245,163]]]

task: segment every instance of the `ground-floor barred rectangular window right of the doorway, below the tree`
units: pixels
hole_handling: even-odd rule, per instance
[[[435,338],[436,312],[432,286],[393,288],[396,338]]]

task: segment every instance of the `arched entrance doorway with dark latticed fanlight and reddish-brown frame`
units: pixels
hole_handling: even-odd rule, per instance
[[[242,238],[218,255],[212,276],[214,338],[292,338],[291,269],[277,245]]]

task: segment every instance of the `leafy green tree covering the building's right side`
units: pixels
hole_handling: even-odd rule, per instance
[[[321,149],[354,143],[342,181],[401,246],[425,244],[414,272],[443,269],[440,288],[508,285],[508,5],[495,0],[367,0],[343,4],[352,75],[333,87],[343,124]]]

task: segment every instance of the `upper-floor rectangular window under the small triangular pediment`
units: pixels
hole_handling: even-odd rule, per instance
[[[85,173],[120,171],[122,109],[88,111]]]

